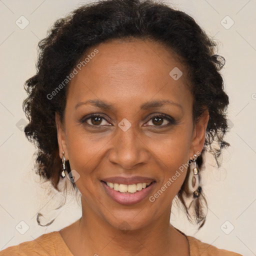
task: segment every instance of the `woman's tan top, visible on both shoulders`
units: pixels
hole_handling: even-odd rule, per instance
[[[242,256],[241,254],[218,249],[186,235],[190,256]],[[22,242],[0,251],[0,256],[73,256],[59,231],[42,234],[35,240]]]

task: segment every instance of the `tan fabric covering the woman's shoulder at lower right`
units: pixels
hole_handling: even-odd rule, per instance
[[[208,243],[201,242],[192,236],[186,236],[189,242],[190,256],[242,256],[229,250],[218,249]]]

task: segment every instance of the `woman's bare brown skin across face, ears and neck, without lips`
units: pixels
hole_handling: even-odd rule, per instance
[[[147,197],[133,205],[113,201],[100,180],[118,175],[151,177],[156,181],[153,195],[179,166],[202,150],[208,111],[193,124],[193,97],[185,67],[161,44],[112,40],[95,48],[98,53],[68,85],[63,123],[56,115],[59,157],[64,151],[71,169],[80,175],[76,186],[82,204],[81,218],[60,234],[75,256],[189,255],[186,237],[169,224],[171,201],[186,171],[154,202]],[[169,75],[174,67],[183,72],[178,80]],[[75,108],[88,99],[108,102],[112,109],[92,104]],[[140,109],[152,100],[175,104]],[[94,126],[95,118],[81,123],[90,113],[101,113],[104,119]],[[163,119],[157,124],[153,113],[154,117],[166,114],[175,121]],[[126,131],[118,127],[123,118],[131,123]]]

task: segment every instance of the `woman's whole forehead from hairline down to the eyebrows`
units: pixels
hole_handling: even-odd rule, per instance
[[[76,101],[93,95],[129,101],[169,95],[182,100],[188,93],[184,66],[176,54],[155,41],[103,42],[87,50],[81,61],[68,89],[68,97]],[[182,75],[173,79],[172,70]]]

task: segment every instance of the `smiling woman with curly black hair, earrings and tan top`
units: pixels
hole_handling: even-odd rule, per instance
[[[169,224],[177,195],[203,225],[204,152],[228,145],[214,46],[190,16],[151,1],[100,1],[57,20],[26,81],[25,134],[38,173],[79,190],[82,216],[0,255],[240,255]]]

